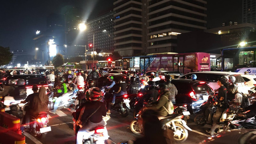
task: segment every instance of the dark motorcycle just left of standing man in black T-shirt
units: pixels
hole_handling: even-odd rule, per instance
[[[216,96],[209,96],[208,100],[200,106],[200,111],[196,112],[194,122],[197,125],[204,126],[205,124],[212,125],[213,115],[216,112],[216,106],[213,103],[217,100]]]

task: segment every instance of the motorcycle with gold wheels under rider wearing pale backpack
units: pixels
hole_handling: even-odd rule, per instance
[[[143,132],[141,114],[143,110],[137,114],[136,118],[131,122],[130,129],[134,134],[141,134]],[[164,130],[171,129],[174,131],[174,140],[176,142],[184,142],[188,138],[188,130],[191,130],[186,122],[182,120],[184,116],[181,114],[169,114],[165,118],[161,119],[162,128]]]

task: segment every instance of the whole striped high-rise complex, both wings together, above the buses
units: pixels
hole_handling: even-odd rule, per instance
[[[122,56],[175,52],[177,35],[206,30],[205,0],[117,0],[115,51]]]

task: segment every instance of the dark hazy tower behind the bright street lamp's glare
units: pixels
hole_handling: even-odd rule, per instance
[[[65,13],[65,32],[66,32],[66,57],[84,57],[87,37],[85,31],[80,31],[78,25],[85,23],[83,20],[84,12],[81,8],[73,7]]]

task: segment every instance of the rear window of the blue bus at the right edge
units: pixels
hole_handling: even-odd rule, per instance
[[[239,53],[239,65],[253,65],[254,52],[253,51],[242,51]]]

